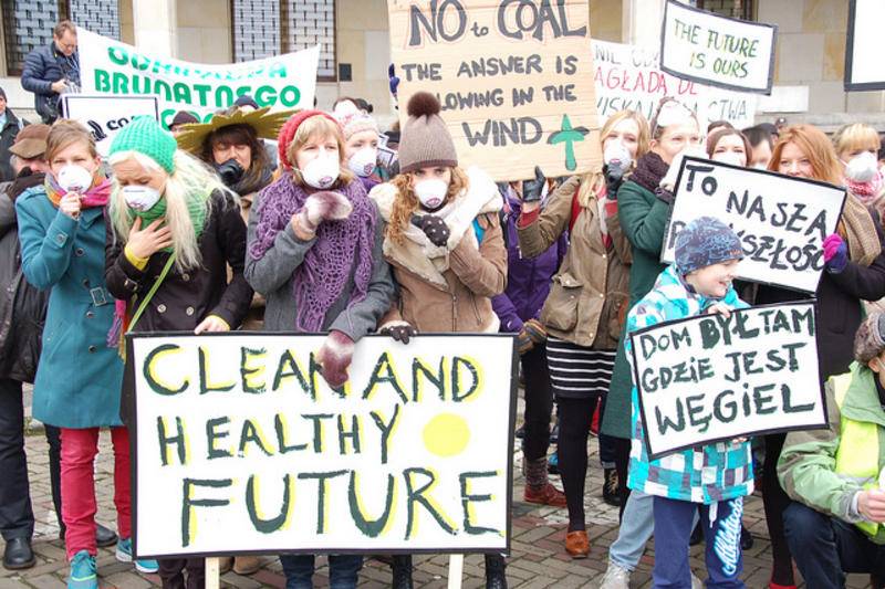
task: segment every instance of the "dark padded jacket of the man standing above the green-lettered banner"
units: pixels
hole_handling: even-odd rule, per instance
[[[50,41],[24,57],[21,85],[28,92],[33,92],[34,109],[46,124],[59,118],[59,94],[52,91],[52,84],[59,80],[69,80],[80,86],[77,52],[66,57],[55,48],[55,41]]]

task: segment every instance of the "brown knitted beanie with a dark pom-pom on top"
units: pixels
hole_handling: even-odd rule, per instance
[[[439,108],[439,101],[429,92],[418,92],[409,98],[408,120],[399,137],[400,172],[458,165],[458,154]]]

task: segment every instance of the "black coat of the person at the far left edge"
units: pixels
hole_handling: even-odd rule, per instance
[[[31,286],[21,272],[14,198],[44,177],[28,170],[0,190],[0,378],[22,382],[37,376],[49,291]]]

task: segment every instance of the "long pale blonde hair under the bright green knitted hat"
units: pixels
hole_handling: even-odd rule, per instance
[[[117,151],[108,159],[111,166],[133,160],[145,171],[157,172],[165,170],[150,157],[140,151]],[[237,194],[225,188],[219,181],[218,176],[212,172],[202,161],[177,149],[173,156],[175,171],[166,178],[166,186],[163,190],[163,198],[166,199],[166,227],[169,228],[173,239],[173,252],[175,253],[175,267],[178,272],[199,267],[202,262],[197,232],[194,230],[194,222],[190,219],[188,203],[194,200],[205,202],[207,208],[206,217],[211,213],[211,193],[221,190],[237,201]],[[114,225],[115,239],[121,243],[126,243],[129,230],[135,222],[135,215],[129,211],[123,190],[116,178],[113,179],[113,190],[108,200],[108,214]]]

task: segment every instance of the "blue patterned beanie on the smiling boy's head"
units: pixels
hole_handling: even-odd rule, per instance
[[[676,270],[683,276],[743,257],[740,240],[727,224],[714,217],[699,217],[676,235]]]

